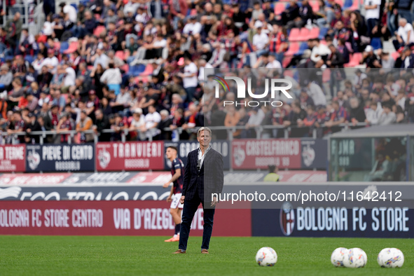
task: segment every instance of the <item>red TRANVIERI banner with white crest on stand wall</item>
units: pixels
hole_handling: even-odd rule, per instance
[[[97,143],[96,158],[98,171],[164,170],[164,143]]]

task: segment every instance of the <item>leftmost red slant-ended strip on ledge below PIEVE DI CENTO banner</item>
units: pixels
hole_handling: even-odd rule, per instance
[[[56,185],[71,175],[71,173],[2,174],[0,176],[0,185]]]

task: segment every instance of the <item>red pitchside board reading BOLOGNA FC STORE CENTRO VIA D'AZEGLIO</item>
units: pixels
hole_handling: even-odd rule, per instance
[[[191,235],[201,236],[203,210]],[[5,201],[0,235],[172,235],[174,221],[165,201]],[[251,236],[250,209],[217,209],[214,236]]]

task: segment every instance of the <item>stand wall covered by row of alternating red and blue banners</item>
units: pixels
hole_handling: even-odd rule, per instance
[[[251,145],[254,145],[251,147]],[[259,145],[260,151],[253,151]],[[119,172],[170,170],[167,146],[177,146],[186,163],[197,142],[112,142],[97,144],[22,144],[0,146],[0,172]],[[224,170],[267,169],[268,165],[297,170],[326,169],[324,139],[216,140]],[[289,148],[289,151],[285,149]]]

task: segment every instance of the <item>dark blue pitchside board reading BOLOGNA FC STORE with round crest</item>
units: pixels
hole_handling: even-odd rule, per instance
[[[298,207],[252,209],[253,236],[414,237],[414,209],[408,207]]]

